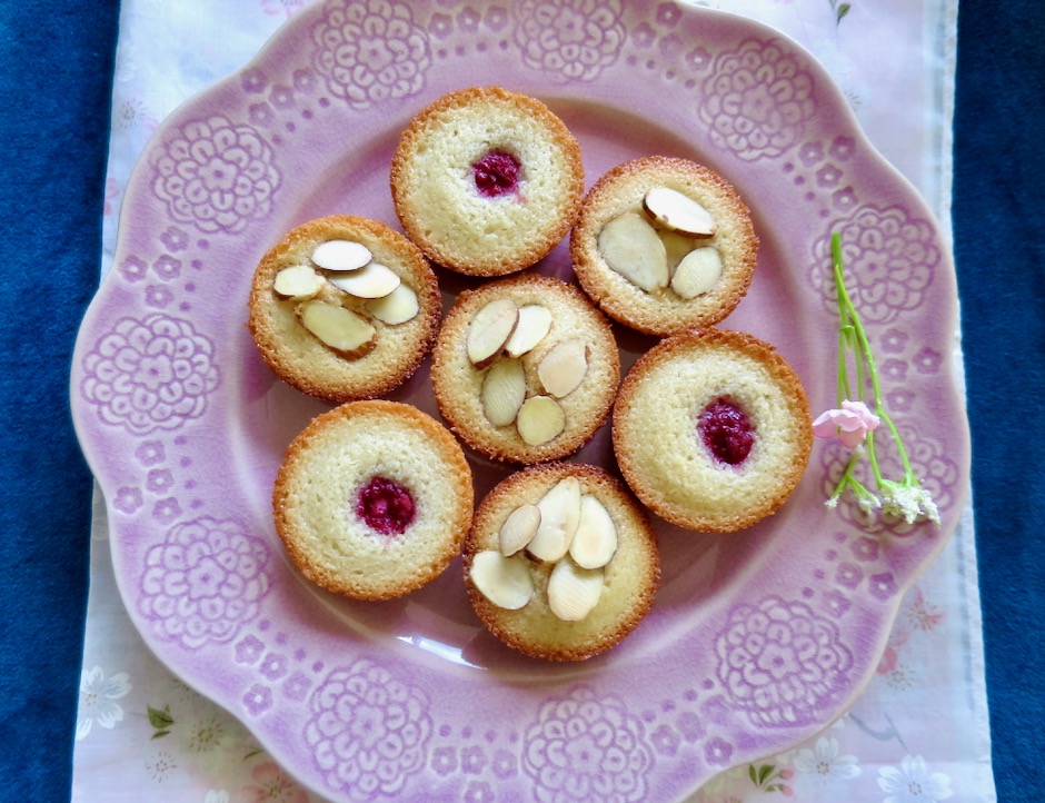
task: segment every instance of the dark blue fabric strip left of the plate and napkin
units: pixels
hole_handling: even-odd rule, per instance
[[[0,800],[69,800],[91,479],[69,414],[93,295],[116,2],[0,3]]]

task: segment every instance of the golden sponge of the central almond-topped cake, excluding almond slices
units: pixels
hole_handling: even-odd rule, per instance
[[[565,428],[543,444],[527,443],[516,422],[500,426],[490,422],[482,388],[494,366],[477,368],[467,355],[468,330],[476,314],[500,298],[512,299],[520,308],[541,305],[551,313],[548,334],[518,358],[526,376],[527,398],[547,395],[539,366],[557,344],[580,338],[587,345],[584,378],[575,390],[557,399],[565,414]],[[526,274],[465,290],[457,297],[432,349],[431,379],[440,413],[469,447],[492,459],[541,463],[573,454],[608,419],[620,383],[620,356],[609,321],[580,290],[560,279]]]

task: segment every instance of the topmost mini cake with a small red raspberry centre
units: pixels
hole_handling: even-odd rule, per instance
[[[390,182],[404,230],[429,258],[470,276],[504,276],[569,231],[584,167],[577,140],[543,102],[471,87],[412,119]]]

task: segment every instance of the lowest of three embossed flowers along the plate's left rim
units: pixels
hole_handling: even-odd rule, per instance
[[[268,546],[241,525],[203,516],[146,554],[139,612],[166,640],[197,648],[228,642],[269,591]]]

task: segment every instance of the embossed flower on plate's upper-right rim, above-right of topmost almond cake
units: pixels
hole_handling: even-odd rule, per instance
[[[744,160],[784,153],[813,118],[813,77],[774,41],[724,51],[704,83],[700,119],[711,140]]]

